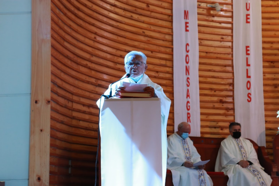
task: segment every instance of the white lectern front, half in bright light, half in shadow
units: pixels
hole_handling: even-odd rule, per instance
[[[159,98],[104,100],[99,185],[162,185],[161,127]]]

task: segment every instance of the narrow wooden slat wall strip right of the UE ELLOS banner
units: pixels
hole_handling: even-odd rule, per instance
[[[263,97],[266,148],[273,159],[272,141],[279,118],[279,2],[262,0]]]

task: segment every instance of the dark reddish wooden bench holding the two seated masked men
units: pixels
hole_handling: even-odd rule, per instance
[[[228,176],[224,175],[223,172],[215,172],[215,162],[218,155],[218,151],[221,145],[221,142],[224,138],[203,138],[203,137],[190,137],[194,143],[194,146],[197,148],[197,152],[201,155],[201,160],[209,160],[206,164],[206,172],[210,176],[213,181],[213,185],[218,186],[227,186]],[[254,148],[258,154],[258,159],[263,166],[264,171],[271,175],[272,178],[272,186],[279,185],[279,177],[276,175],[277,165],[269,159],[266,149],[263,146],[257,145],[254,141],[249,139],[251,143],[254,145]],[[274,143],[274,141],[273,141]],[[278,135],[278,147],[279,147],[279,135]],[[274,148],[274,145],[273,145]],[[279,151],[279,148],[278,148]],[[275,159],[275,158],[274,158]],[[279,162],[279,152],[278,152],[278,162]],[[170,170],[167,170],[166,174],[166,186],[173,186],[172,184],[172,174]]]

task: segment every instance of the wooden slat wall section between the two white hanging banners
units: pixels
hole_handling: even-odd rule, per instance
[[[234,121],[232,0],[197,0],[201,136],[228,136]]]

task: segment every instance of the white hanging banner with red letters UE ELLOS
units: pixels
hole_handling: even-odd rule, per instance
[[[235,121],[242,137],[265,146],[261,1],[233,3]]]

